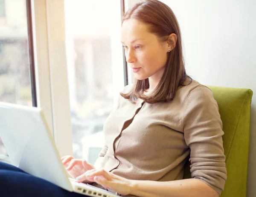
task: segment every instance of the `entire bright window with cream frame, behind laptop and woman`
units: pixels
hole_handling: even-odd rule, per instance
[[[28,2],[32,13],[26,16]],[[0,101],[37,106],[31,75],[36,72],[38,107],[44,111],[60,155],[70,155],[73,149],[75,157],[93,163],[104,145],[105,119],[124,87],[120,2],[13,3],[5,1],[8,20],[0,23]],[[35,71],[29,66],[33,62],[29,14]],[[6,155],[3,144],[0,147],[0,154]]]

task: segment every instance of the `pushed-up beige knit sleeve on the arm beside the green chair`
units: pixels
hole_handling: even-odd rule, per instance
[[[182,117],[185,141],[191,151],[191,177],[221,194],[227,179],[222,141],[224,132],[212,91],[203,85],[192,89]]]

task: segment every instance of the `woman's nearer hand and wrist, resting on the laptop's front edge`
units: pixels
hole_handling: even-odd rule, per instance
[[[116,191],[118,194],[127,195],[132,191],[132,180],[119,177],[105,170],[91,170],[76,178],[76,182],[81,183],[84,180],[93,180],[105,188]]]

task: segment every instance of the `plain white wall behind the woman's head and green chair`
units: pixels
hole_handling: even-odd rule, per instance
[[[247,197],[256,197],[256,1],[162,2],[180,23],[189,75],[201,84],[250,88],[254,92]]]

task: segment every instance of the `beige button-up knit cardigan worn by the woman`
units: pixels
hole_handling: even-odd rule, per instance
[[[192,178],[219,194],[224,189],[227,171],[218,105],[212,91],[195,80],[168,102],[138,99],[132,104],[119,96],[103,130],[106,144],[99,154],[104,157],[100,168],[131,180],[180,180],[190,156]]]

